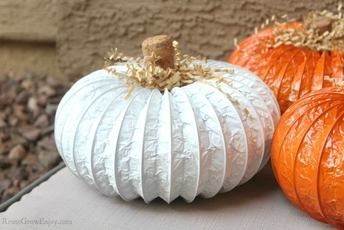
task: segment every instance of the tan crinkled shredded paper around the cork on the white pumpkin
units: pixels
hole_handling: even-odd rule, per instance
[[[176,41],[173,41],[173,47],[175,51],[173,69],[163,69],[160,66],[156,66],[155,62],[159,60],[160,57],[157,57],[154,52],[151,57],[153,57],[155,61],[144,62],[142,58],[135,59],[123,56],[123,53],[118,53],[117,48],[115,50],[112,49],[111,52],[108,53],[109,56],[105,57],[105,65],[103,68],[117,75],[119,79],[123,79],[128,84],[130,90],[125,96],[125,99],[131,96],[137,84],[149,89],[159,89],[163,92],[165,88],[170,91],[174,87],[182,87],[199,81],[217,88],[243,109],[248,116],[251,116],[245,106],[241,105],[237,99],[231,97],[228,93],[223,92],[219,87],[219,83],[221,82],[229,86],[232,85],[222,74],[219,74],[219,72],[232,73],[232,69],[204,68],[202,67],[202,63],[207,63],[206,58],[201,58],[201,56],[195,58],[189,55],[181,55],[178,42]],[[195,62],[197,59],[200,61],[199,63]],[[126,62],[127,66],[125,77],[121,77],[116,69],[110,66],[122,62]]]

